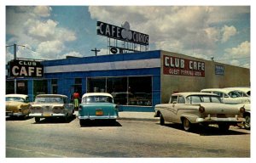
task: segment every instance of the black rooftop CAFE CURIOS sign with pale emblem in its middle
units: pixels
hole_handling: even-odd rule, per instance
[[[97,35],[110,37],[113,39],[133,42],[141,45],[148,45],[149,36],[137,31],[131,31],[130,25],[127,21],[122,27],[109,25],[102,21],[97,21]]]

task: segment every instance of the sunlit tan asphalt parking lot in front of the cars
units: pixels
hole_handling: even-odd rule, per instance
[[[115,124],[93,121],[80,127],[68,122],[33,118],[6,121],[6,157],[248,158],[250,131],[230,126],[199,127],[185,132],[177,124],[120,118]]]

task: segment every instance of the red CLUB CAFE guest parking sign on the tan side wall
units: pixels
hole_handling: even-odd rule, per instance
[[[205,63],[172,56],[163,56],[164,74],[176,76],[205,76]]]

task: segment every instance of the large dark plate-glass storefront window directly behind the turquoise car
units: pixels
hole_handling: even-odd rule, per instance
[[[115,104],[152,106],[152,77],[101,77],[87,79],[87,93],[110,93]]]

